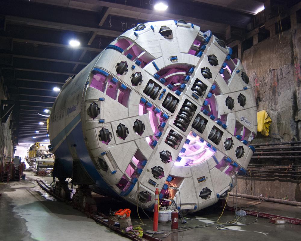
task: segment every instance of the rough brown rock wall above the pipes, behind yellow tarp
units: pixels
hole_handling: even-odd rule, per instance
[[[297,30],[296,39],[292,37],[292,31],[287,30],[280,39],[275,35],[244,52],[242,62],[253,86],[257,109],[266,110],[272,119],[270,135],[258,133],[253,143],[300,139],[301,80],[296,73],[300,65],[294,64],[293,41],[301,42],[301,30]]]

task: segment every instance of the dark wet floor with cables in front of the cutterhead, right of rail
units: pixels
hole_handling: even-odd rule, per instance
[[[197,220],[187,220],[185,225],[180,224],[180,227],[194,227],[200,224],[208,224],[215,222],[220,214],[221,209],[217,207],[210,207],[203,209],[197,212],[195,216],[188,216],[191,219]],[[289,216],[289,215],[287,215]],[[301,217],[299,217],[301,218]],[[219,220],[221,223],[225,223],[234,219],[234,213],[230,211],[224,211],[222,218]],[[242,218],[238,224],[247,224],[252,221],[255,221],[256,217],[245,216]],[[138,220],[136,220],[138,221]],[[151,229],[151,221],[144,221],[147,224],[148,228]],[[159,225],[158,230],[171,230],[170,223],[168,226]],[[169,236],[169,232],[166,231],[166,234],[163,235],[154,235],[157,238],[162,239],[163,241],[198,241],[198,240],[244,240],[244,241],[253,241],[253,240],[264,240],[264,241],[274,241],[274,240],[299,240],[301,236],[301,226],[293,224],[271,224],[268,219],[258,218],[258,221],[245,225],[245,226],[228,226],[229,230],[217,230],[216,227],[204,227],[204,228],[194,228],[185,232],[172,233]],[[180,229],[179,229],[180,230]],[[167,236],[167,237],[166,237]]]

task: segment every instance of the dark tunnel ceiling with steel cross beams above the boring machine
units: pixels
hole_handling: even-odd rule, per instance
[[[11,101],[4,104],[13,107],[14,145],[48,141],[42,115],[58,94],[53,88],[61,88],[137,23],[185,19],[222,38],[228,26],[245,29],[264,1],[167,2],[166,12],[156,12],[153,0],[2,0],[0,73]],[[80,46],[72,48],[70,39],[78,39]]]

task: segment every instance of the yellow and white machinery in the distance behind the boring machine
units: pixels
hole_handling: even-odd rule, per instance
[[[53,168],[54,155],[45,144],[36,142],[28,150],[28,164],[35,168]]]

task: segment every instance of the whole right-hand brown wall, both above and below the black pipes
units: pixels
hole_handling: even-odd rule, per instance
[[[252,143],[300,140],[301,24],[296,23],[294,16],[291,24],[292,28],[283,32],[280,39],[279,35],[271,36],[243,53],[242,62],[250,77],[258,111],[266,110],[272,119],[270,135],[258,133]],[[239,177],[237,192],[274,198],[288,195],[289,199],[301,201],[300,179],[254,176]]]

